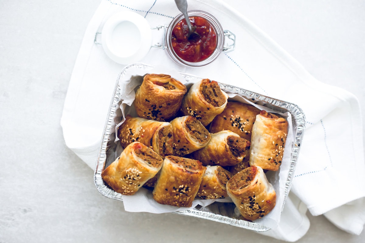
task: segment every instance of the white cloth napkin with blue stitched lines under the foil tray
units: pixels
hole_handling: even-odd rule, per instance
[[[166,50],[159,48],[151,48],[141,62],[164,64],[296,103],[306,114],[307,129],[300,145],[292,191],[279,227],[263,234],[287,241],[301,238],[309,228],[307,208],[312,215],[324,214],[342,230],[360,234],[365,223],[362,180],[365,163],[356,97],[316,80],[265,33],[223,1],[189,0],[190,9],[211,13],[223,29],[233,32],[235,50],[222,53],[215,62],[199,68],[181,67],[172,62]],[[108,17],[119,11],[137,12],[151,27],[169,24],[179,13],[171,0],[102,0],[92,17],[76,59],[61,118],[66,145],[92,169],[116,78],[124,67],[110,60],[94,39]]]

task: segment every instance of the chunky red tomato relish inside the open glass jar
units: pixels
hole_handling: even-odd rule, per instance
[[[185,19],[174,26],[171,44],[175,53],[187,62],[200,62],[207,59],[217,46],[217,35],[213,26],[204,18],[189,17],[193,30],[200,35],[197,40],[188,40],[189,28]]]

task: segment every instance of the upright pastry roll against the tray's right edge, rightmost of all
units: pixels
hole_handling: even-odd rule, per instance
[[[277,171],[283,159],[287,133],[286,119],[262,110],[252,128],[250,165]]]

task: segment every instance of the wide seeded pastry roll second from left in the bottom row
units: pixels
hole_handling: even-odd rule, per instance
[[[154,200],[160,204],[191,207],[205,169],[197,160],[166,156],[152,192]]]

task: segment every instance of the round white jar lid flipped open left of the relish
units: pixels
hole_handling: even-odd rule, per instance
[[[152,31],[145,18],[135,12],[112,15],[101,31],[101,44],[114,62],[129,64],[143,59],[152,45]]]

